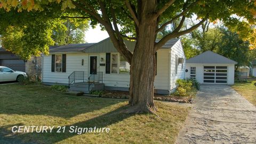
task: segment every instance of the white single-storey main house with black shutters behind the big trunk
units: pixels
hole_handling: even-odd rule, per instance
[[[125,44],[130,51],[134,50],[135,42]],[[156,55],[155,92],[170,94],[175,91],[176,80],[184,78],[185,55],[180,39],[171,39]],[[91,83],[86,82],[97,81],[103,83],[105,90],[129,90],[130,65],[110,38],[99,43],[50,47],[50,54],[44,55],[42,62],[44,84],[70,84],[71,90],[89,92],[97,85],[90,88]]]

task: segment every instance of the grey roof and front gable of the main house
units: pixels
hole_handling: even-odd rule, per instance
[[[162,46],[162,49],[170,49],[175,43],[179,41],[179,38],[170,39]],[[156,41],[158,42],[158,41]],[[130,51],[134,50],[135,42],[134,41],[126,41],[125,44]],[[51,46],[50,53],[55,52],[86,52],[86,53],[94,53],[94,52],[117,52],[113,43],[111,43],[111,39],[108,37],[103,39],[98,43],[85,43],[85,44],[68,44],[62,46]]]

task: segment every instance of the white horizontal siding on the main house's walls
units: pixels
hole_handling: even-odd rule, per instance
[[[170,85],[168,82],[169,77],[169,53],[168,50],[158,50],[157,51],[157,75],[155,77],[155,89],[159,90],[169,90]],[[97,71],[103,72],[103,83],[105,86],[115,86],[115,87],[129,87],[130,85],[130,74],[120,73],[120,74],[106,74],[106,67],[100,66],[100,63],[106,63],[106,53],[67,53],[67,64],[66,73],[52,73],[51,72],[51,54],[44,55],[43,58],[43,82],[45,83],[61,83],[68,84],[68,76],[73,73],[73,71],[85,71],[85,81],[89,77],[88,71],[89,66],[89,55],[97,55]],[[100,61],[103,58],[103,61]],[[84,59],[84,65],[82,66],[82,59]],[[181,67],[181,65],[179,65]],[[178,74],[180,72],[178,71]],[[174,82],[175,83],[175,82]]]

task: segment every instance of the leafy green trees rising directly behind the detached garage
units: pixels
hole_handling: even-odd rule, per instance
[[[255,53],[250,49],[249,41],[244,41],[239,34],[223,26],[202,29],[198,28],[189,35],[183,36],[187,59],[205,51],[213,51],[237,61],[236,69],[239,66],[249,65]]]

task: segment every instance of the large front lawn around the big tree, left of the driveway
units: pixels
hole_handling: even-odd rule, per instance
[[[0,85],[0,143],[174,143],[188,108],[155,102],[159,119],[124,114],[122,99],[76,97],[48,86]],[[12,133],[14,125],[55,126],[52,133]],[[56,133],[57,126],[109,127],[109,133]]]

